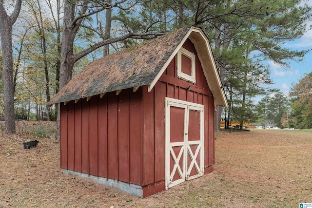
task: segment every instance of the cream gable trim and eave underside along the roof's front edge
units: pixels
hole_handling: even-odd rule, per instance
[[[192,34],[192,35],[191,35]],[[148,92],[151,92],[153,87],[155,86],[156,82],[160,78],[160,76],[164,73],[172,59],[176,56],[177,52],[180,50],[184,42],[187,40],[187,38],[190,38],[195,45],[195,49],[197,51],[198,58],[200,60],[200,63],[203,68],[204,75],[206,77],[209,89],[212,91],[214,97],[215,97],[215,106],[222,106],[224,105],[225,108],[228,108],[228,102],[224,93],[224,90],[222,88],[221,80],[219,77],[219,73],[216,69],[215,60],[212,54],[212,50],[209,45],[209,41],[206,37],[206,35],[203,33],[203,31],[200,28],[192,26],[190,30],[187,32],[185,37],[182,39],[182,41],[178,44],[175,51],[171,54],[171,56],[168,58],[167,62],[162,66],[158,74],[155,76],[154,80],[151,82],[151,84],[148,86]],[[203,45],[205,47],[203,47]],[[208,54],[207,54],[208,53]],[[205,57],[202,57],[202,54],[208,55],[209,60],[205,59]],[[212,69],[212,72],[211,72]],[[214,76],[211,76],[211,73]]]

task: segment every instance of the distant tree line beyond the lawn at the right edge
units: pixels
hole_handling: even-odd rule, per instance
[[[312,128],[312,72],[292,83],[289,95],[266,95],[257,104],[258,126]]]

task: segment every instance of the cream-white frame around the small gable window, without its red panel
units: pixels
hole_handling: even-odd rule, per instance
[[[191,76],[182,72],[182,54],[192,60],[192,69],[191,69]],[[177,52],[177,77],[181,79],[185,79],[189,82],[195,83],[196,82],[196,62],[195,62],[195,54],[186,50],[185,48],[181,47],[180,50]]]

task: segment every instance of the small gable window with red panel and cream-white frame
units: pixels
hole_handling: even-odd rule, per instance
[[[177,52],[177,77],[195,83],[195,54],[181,47]]]

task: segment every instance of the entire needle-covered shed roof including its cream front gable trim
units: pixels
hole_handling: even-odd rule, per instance
[[[60,89],[49,104],[148,85],[151,91],[187,38],[195,45],[215,106],[228,106],[207,37],[200,28],[184,27],[99,58]]]

